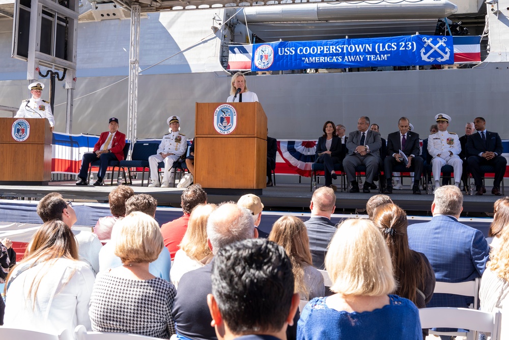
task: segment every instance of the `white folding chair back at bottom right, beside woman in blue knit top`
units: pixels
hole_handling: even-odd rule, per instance
[[[422,328],[469,329],[467,339],[476,339],[477,332],[491,333],[491,340],[500,339],[500,310],[489,313],[470,308],[432,307],[419,309]]]

